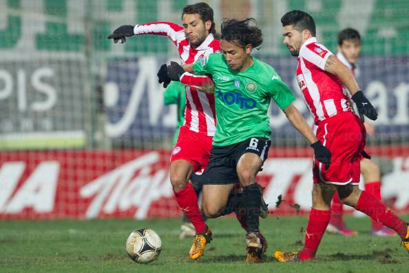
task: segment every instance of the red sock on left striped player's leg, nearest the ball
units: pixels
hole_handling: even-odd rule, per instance
[[[188,182],[183,190],[174,191],[174,193],[180,209],[189,218],[195,227],[196,233],[203,233],[206,230],[206,223],[203,221],[198,205],[198,196],[191,183]]]

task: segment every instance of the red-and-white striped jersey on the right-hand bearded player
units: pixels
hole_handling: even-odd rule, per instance
[[[342,82],[324,70],[332,54],[313,37],[304,42],[298,56],[297,81],[315,124],[339,112],[351,111]]]

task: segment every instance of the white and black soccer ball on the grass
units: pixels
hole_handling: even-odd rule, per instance
[[[136,263],[150,263],[158,259],[162,241],[153,230],[141,228],[129,234],[125,247],[129,257]]]

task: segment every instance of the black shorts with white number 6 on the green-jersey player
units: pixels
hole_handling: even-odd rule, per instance
[[[269,153],[270,144],[270,139],[256,136],[223,147],[213,146],[209,163],[207,163],[207,168],[202,175],[202,183],[204,185],[237,183],[239,180],[236,166],[240,157],[251,152],[258,154],[264,163]]]

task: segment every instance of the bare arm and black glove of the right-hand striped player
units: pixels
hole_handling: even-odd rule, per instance
[[[325,71],[334,74],[345,85],[350,94],[351,99],[357,104],[359,113],[364,114],[369,119],[375,121],[378,117],[377,110],[372,103],[368,101],[364,93],[359,89],[357,81],[349,68],[337,59],[334,55],[328,57],[325,63]]]

